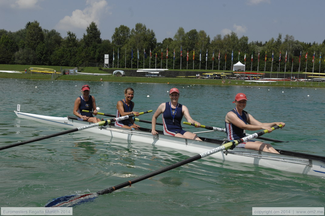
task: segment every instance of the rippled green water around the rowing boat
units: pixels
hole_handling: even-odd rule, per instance
[[[97,106],[116,112],[123,89],[135,89],[135,111],[154,110],[180,89],[179,102],[203,125],[224,128],[224,116],[238,92],[247,94],[246,111],[262,122],[286,127],[266,137],[289,142],[275,148],[325,156],[325,89],[208,85],[169,85],[0,79],[3,102],[1,145],[59,131],[14,114],[72,115],[80,88],[89,84]],[[37,86],[37,88],[35,88]],[[283,91],[283,93],[282,93]],[[150,97],[147,97],[149,95]],[[307,96],[309,95],[309,97]],[[152,113],[140,116],[151,120]],[[161,122],[161,117],[159,118]],[[149,124],[138,123],[150,128]],[[188,128],[189,131],[204,131]],[[201,136],[223,138],[220,132]],[[85,130],[0,152],[1,207],[43,207],[52,198],[97,192],[193,156],[173,149],[88,133]],[[248,164],[201,159],[76,206],[73,215],[252,215],[252,207],[324,207],[324,179]]]

